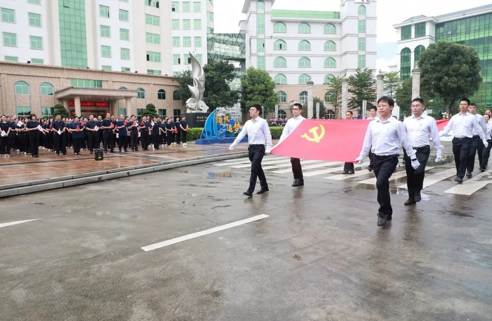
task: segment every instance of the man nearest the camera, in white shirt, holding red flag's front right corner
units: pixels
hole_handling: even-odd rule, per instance
[[[369,149],[374,153],[372,162],[379,203],[377,226],[385,226],[386,221],[392,219],[389,178],[397,167],[400,146],[407,150],[412,167],[417,169],[420,166],[415,150],[408,141],[405,126],[398,119],[391,117],[394,105],[395,101],[390,97],[383,96],[378,99],[379,118],[369,122],[364,145],[359,157],[356,158],[356,161],[362,164]]]

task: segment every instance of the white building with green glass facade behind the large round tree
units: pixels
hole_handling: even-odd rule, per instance
[[[492,105],[492,4],[439,16],[419,15],[394,25],[398,30],[400,77],[407,79],[421,54],[435,41],[450,41],[475,49],[487,85],[476,97]]]

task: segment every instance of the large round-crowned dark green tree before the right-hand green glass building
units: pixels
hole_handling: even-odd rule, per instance
[[[480,88],[480,58],[468,46],[439,41],[431,44],[419,60],[421,88],[430,97],[441,97],[448,115],[462,97],[473,96]]]

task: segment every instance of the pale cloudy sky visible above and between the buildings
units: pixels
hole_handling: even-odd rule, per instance
[[[485,4],[491,0],[377,0],[377,66],[387,70],[396,64],[396,30],[392,25],[420,14],[441,15]],[[215,32],[239,32],[244,0],[214,0]],[[339,11],[340,0],[276,0],[274,9]]]

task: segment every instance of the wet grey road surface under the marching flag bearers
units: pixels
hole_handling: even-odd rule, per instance
[[[2,199],[0,320],[492,319],[491,173],[463,183],[471,195],[435,178],[415,206],[397,175],[378,228],[371,174],[316,164],[300,188],[275,173],[288,166],[266,170],[250,199],[245,159]]]

